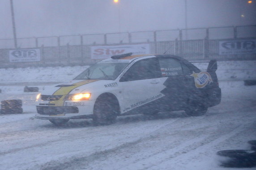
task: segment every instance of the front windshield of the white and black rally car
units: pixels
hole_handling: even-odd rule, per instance
[[[84,70],[74,80],[114,80],[128,64],[128,62],[97,63]]]

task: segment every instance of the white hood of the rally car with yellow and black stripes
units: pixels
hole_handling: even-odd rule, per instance
[[[81,93],[87,88],[94,87],[98,84],[103,84],[106,80],[72,80],[68,83],[55,84],[51,87],[46,87],[43,91],[43,95],[68,95],[73,93]]]

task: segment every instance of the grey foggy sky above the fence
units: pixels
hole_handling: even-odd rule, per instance
[[[187,0],[188,28],[256,25],[256,0]],[[13,0],[17,37],[184,29],[185,0]],[[243,15],[243,17],[241,17]],[[0,0],[0,39],[13,38]]]

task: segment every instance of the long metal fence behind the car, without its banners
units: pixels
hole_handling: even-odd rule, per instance
[[[155,54],[166,52],[190,60],[230,59],[234,56],[218,55],[218,42],[242,38],[256,38],[256,25],[18,38],[18,49],[40,48],[41,61],[15,63],[15,66],[92,64],[97,60],[90,58],[90,46],[145,42],[150,44],[151,53]],[[9,50],[14,49],[13,39],[0,39],[1,67],[14,64],[9,62]],[[248,56],[255,57],[255,54]]]

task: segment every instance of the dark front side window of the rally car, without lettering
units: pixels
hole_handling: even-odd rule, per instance
[[[120,82],[155,79],[161,76],[157,58],[148,58],[134,63],[120,79]]]

